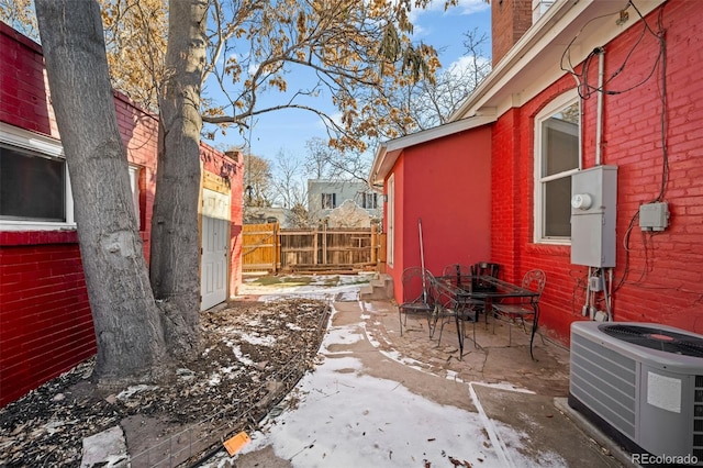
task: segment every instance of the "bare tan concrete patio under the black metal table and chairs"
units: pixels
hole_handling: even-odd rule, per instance
[[[535,466],[539,465],[537,454],[546,452],[558,453],[569,467],[634,466],[628,454],[568,406],[569,350],[562,345],[537,335],[533,360],[529,335],[522,327],[513,325],[509,346],[509,324],[498,321],[493,326],[492,319],[486,323],[481,317],[476,325],[479,347],[465,338],[464,357],[459,360],[454,322],[445,325],[438,343],[437,333],[432,339],[428,337],[424,317],[410,315],[401,336],[398,309],[393,304],[376,301],[362,305],[368,313],[367,334],[376,341],[379,350],[398,353],[399,360],[406,367],[414,365],[459,383],[459,401],[448,404],[472,406],[471,411],[484,412],[489,421],[523,432],[529,439]],[[467,336],[471,336],[471,326],[467,323]],[[502,385],[514,390],[502,389]],[[466,387],[476,392],[475,402],[479,402],[480,408],[466,398]],[[433,389],[428,389],[428,393],[440,394]]]

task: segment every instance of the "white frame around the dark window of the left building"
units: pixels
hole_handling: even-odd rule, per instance
[[[29,149],[53,158],[66,159],[64,156],[64,146],[58,140],[46,135],[30,132],[29,130],[19,129],[13,125],[0,122],[0,143],[15,146],[22,149]],[[66,221],[48,222],[48,221],[18,221],[18,220],[0,220],[0,231],[57,231],[57,230],[75,230],[76,221],[74,219],[74,198],[70,190],[70,180],[68,177],[68,166],[64,165],[65,170],[65,203],[66,203]]]

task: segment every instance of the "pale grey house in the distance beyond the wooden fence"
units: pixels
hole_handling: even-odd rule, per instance
[[[308,212],[311,220],[324,221],[332,210],[352,200],[372,219],[382,215],[382,196],[366,182],[350,180],[308,180]]]

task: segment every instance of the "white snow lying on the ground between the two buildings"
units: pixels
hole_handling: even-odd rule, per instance
[[[290,292],[286,289],[283,296]],[[338,292],[335,288],[321,291],[319,287],[302,287],[295,294],[330,299],[330,294]],[[344,292],[352,294],[352,290]],[[281,296],[274,293],[263,299],[278,297]],[[365,334],[364,322],[331,327],[322,343],[324,357],[287,397],[295,404],[266,419],[260,431],[249,434],[252,443],[242,454],[271,445],[278,457],[289,459],[293,467],[305,468],[534,466],[534,459],[521,454],[525,434],[490,420],[481,409],[473,383],[467,385],[467,397],[478,412],[440,405],[398,381],[362,375],[360,360],[349,353],[331,350],[334,345],[365,338],[373,344],[373,338]],[[388,356],[419,368],[401,356]],[[225,460],[226,454],[219,464]],[[563,466],[563,460],[545,454],[539,466]]]

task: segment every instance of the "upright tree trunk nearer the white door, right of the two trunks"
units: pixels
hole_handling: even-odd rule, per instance
[[[169,353],[199,342],[200,91],[208,2],[169,2],[166,78],[159,92],[159,154],[152,219],[150,279]]]

